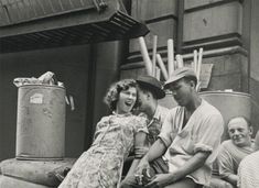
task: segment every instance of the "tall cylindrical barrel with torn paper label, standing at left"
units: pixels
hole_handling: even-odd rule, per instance
[[[65,153],[65,88],[25,85],[18,90],[19,159],[62,159]]]

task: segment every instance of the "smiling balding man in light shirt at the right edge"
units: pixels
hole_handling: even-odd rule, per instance
[[[239,163],[253,152],[250,122],[244,117],[233,118],[228,123],[228,134],[230,140],[222,143],[217,157],[219,175],[237,186]]]

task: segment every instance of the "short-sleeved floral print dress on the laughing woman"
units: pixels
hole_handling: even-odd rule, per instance
[[[122,165],[137,132],[147,130],[147,119],[130,113],[104,117],[91,147],[77,159],[58,188],[116,188]]]

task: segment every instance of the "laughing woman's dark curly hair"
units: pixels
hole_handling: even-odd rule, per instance
[[[134,88],[137,87],[136,80],[122,79],[122,80],[119,80],[119,81],[112,84],[109,87],[109,89],[104,98],[104,102],[109,107],[109,109],[111,111],[116,110],[116,104],[117,104],[117,101],[119,100],[120,91],[127,90],[130,87],[134,87]],[[137,101],[136,101],[136,104],[137,104]]]

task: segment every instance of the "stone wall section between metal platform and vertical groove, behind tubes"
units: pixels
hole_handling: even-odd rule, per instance
[[[153,35],[158,35],[158,53],[164,56],[168,38],[176,42],[177,0],[163,0],[163,3],[157,0],[132,0],[131,14],[144,21],[150,29],[150,33],[145,36],[148,51],[152,53]],[[130,40],[128,58],[123,65],[126,67],[121,68],[121,78],[131,77],[131,74],[138,75],[137,69],[143,67],[137,38]]]

